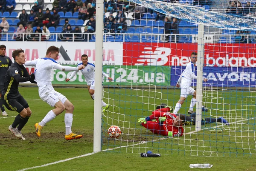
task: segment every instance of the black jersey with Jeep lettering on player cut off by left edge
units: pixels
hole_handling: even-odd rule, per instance
[[[4,77],[11,65],[12,60],[9,57],[0,55],[0,85],[4,85]]]

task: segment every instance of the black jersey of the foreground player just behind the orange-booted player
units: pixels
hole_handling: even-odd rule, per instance
[[[2,98],[8,100],[20,97],[19,82],[17,81],[17,78],[20,77],[29,77],[29,73],[23,65],[14,62],[6,72]]]

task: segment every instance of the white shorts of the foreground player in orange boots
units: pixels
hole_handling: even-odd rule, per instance
[[[64,95],[58,93],[54,89],[49,89],[47,87],[44,87],[39,91],[39,96],[42,100],[44,100],[48,105],[52,107],[54,107],[58,101],[64,103],[67,100]]]

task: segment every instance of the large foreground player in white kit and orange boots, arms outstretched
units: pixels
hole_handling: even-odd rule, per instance
[[[35,132],[38,137],[41,136],[41,131],[46,123],[53,120],[56,116],[61,114],[65,109],[64,122],[66,125],[66,140],[80,139],[82,135],[74,134],[71,131],[71,126],[73,122],[73,111],[74,106],[70,103],[67,98],[58,93],[52,87],[52,69],[58,69],[61,71],[75,71],[81,70],[84,66],[79,67],[70,67],[70,66],[61,66],[55,60],[58,59],[59,48],[55,46],[50,46],[47,49],[46,56],[44,58],[39,58],[37,60],[26,61],[26,66],[35,66],[35,81],[38,85],[39,96],[42,100],[48,103],[50,106],[55,107],[55,109],[48,112],[44,119],[40,123],[35,124]]]

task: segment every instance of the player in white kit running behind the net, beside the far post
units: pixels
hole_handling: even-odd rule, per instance
[[[184,103],[188,95],[192,95],[191,103],[189,106],[188,114],[194,113],[193,108],[196,103],[196,91],[191,87],[191,83],[193,79],[197,79],[195,75],[195,63],[197,62],[197,53],[192,52],[191,54],[191,62],[187,64],[186,69],[180,75],[180,78],[176,84],[177,88],[181,88],[180,90],[180,100],[176,103],[174,114],[177,114],[180,110],[181,105]],[[204,78],[204,81],[207,82],[207,79]]]

